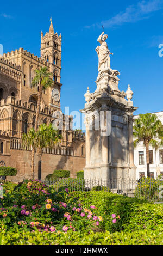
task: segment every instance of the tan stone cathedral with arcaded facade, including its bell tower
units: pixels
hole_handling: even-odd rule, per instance
[[[39,125],[49,125],[55,118],[63,117],[60,110],[61,86],[61,34],[54,33],[53,23],[49,32],[41,32],[41,57],[19,48],[0,58],[0,166],[12,166],[18,170],[15,181],[30,178],[31,149],[22,148],[22,134],[34,127],[39,86],[33,87],[34,70],[47,66],[53,74],[54,86],[42,94]],[[69,117],[72,123],[72,117]],[[55,169],[70,170],[71,176],[85,166],[85,134],[60,131],[59,148],[43,149],[42,179]],[[35,154],[35,178],[37,154]],[[12,180],[13,180],[12,179]]]

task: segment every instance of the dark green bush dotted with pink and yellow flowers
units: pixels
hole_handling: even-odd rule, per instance
[[[67,203],[68,189],[54,192],[43,182],[30,180],[4,195],[0,205],[1,229],[26,231],[89,230],[103,221],[93,210],[96,206],[83,208],[76,202]],[[98,220],[98,222],[97,222]]]

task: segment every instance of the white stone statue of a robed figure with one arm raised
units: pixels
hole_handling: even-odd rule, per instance
[[[110,68],[110,54],[113,54],[109,51],[108,45],[105,40],[108,38],[108,35],[104,35],[104,32],[99,36],[97,41],[101,44],[97,46],[96,52],[98,55],[98,71]]]

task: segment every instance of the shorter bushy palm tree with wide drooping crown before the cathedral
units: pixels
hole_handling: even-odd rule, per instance
[[[37,151],[37,155],[39,157],[38,160],[38,176],[41,179],[41,159],[43,148],[54,148],[56,147],[62,136],[59,134],[57,130],[53,129],[52,124],[47,126],[47,124],[41,124],[39,126],[39,130],[35,132],[32,128],[29,132],[23,133],[22,141],[23,147],[32,147],[34,151]]]

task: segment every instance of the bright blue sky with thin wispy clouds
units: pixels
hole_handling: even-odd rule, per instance
[[[84,108],[87,86],[94,92],[97,38],[109,35],[111,68],[120,71],[120,90],[134,92],[135,114],[163,111],[163,1],[5,1],[0,8],[0,44],[4,52],[23,47],[40,56],[40,33],[52,16],[62,35],[61,109]]]

